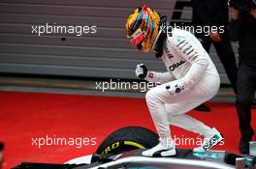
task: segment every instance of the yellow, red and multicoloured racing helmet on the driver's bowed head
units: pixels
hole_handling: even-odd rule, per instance
[[[139,50],[151,51],[159,33],[160,16],[145,5],[137,8],[126,20],[126,38]]]

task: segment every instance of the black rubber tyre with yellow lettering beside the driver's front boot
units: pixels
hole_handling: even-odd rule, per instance
[[[99,146],[95,154],[117,155],[125,151],[152,148],[158,135],[144,127],[122,127],[113,131]],[[94,159],[92,158],[92,162]]]

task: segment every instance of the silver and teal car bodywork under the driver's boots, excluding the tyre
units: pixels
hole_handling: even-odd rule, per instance
[[[256,169],[255,156],[236,156],[223,151],[193,153],[192,150],[177,150],[176,156],[145,157],[143,150],[125,152],[119,155],[93,155],[90,164],[42,164],[22,163],[16,169]],[[233,158],[232,158],[233,155]],[[249,160],[250,159],[250,160]],[[236,165],[237,164],[237,165]]]

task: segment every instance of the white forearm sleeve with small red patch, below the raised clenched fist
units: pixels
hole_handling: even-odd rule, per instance
[[[176,78],[173,73],[168,70],[166,72],[148,71],[147,76],[144,79],[149,82],[164,84],[173,81]]]

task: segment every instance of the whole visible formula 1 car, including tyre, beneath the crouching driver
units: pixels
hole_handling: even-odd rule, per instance
[[[172,157],[142,156],[143,149],[157,143],[157,134],[151,130],[123,127],[112,132],[94,155],[73,159],[65,164],[24,162],[14,169],[256,169],[256,156],[235,155],[224,151],[193,153],[192,150],[179,149],[176,156]]]

